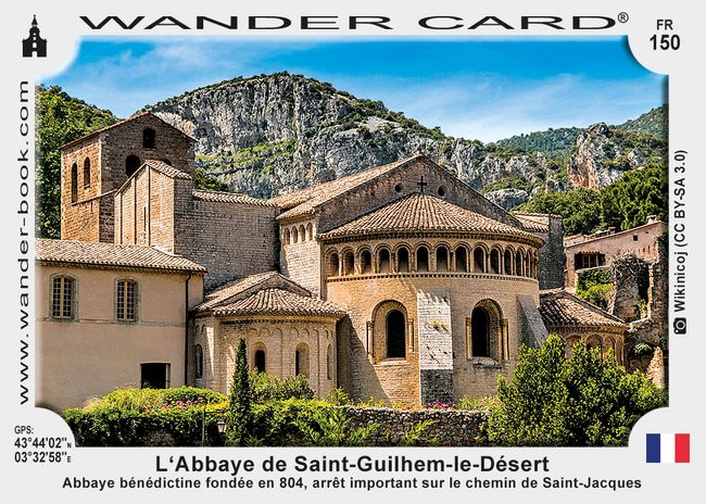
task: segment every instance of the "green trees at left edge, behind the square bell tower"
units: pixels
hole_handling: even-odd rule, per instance
[[[58,86],[36,89],[37,236],[59,238],[61,152],[64,143],[117,121],[110,111],[66,94]]]

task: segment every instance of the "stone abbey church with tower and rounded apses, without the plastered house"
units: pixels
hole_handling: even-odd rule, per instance
[[[407,405],[482,396],[512,375],[521,343],[555,327],[540,289],[563,286],[560,216],[512,215],[425,155],[268,201],[193,184],[193,139],[150,114],[78,139],[62,150],[53,245],[104,241],[207,270],[204,290],[189,290],[186,382],[226,392],[245,338],[253,369],[306,375],[319,395],[342,387],[354,400]],[[91,294],[113,299],[109,287]],[[80,332],[84,322],[50,329]],[[583,322],[567,327],[581,332]],[[610,324],[593,331],[616,333]],[[96,344],[115,351],[112,338]],[[104,349],[87,352],[104,358]]]

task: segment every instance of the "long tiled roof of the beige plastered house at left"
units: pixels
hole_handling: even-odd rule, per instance
[[[206,273],[205,267],[186,257],[140,245],[37,238],[35,257],[52,264]]]

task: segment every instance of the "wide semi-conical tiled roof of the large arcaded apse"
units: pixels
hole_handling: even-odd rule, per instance
[[[374,235],[415,230],[488,232],[539,240],[517,227],[486,217],[440,198],[415,192],[319,236]]]

